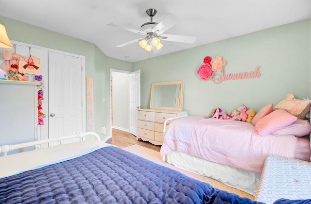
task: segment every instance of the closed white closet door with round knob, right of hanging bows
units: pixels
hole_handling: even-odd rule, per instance
[[[81,58],[49,51],[48,117],[49,138],[82,132]]]

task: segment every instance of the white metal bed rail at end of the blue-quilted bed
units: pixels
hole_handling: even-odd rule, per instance
[[[57,142],[59,141],[60,144],[63,144],[63,141],[66,139],[73,139],[73,138],[79,138],[79,141],[83,141],[86,136],[94,136],[96,140],[101,141],[101,138],[97,135],[97,133],[94,132],[85,132],[85,133],[77,133],[70,136],[62,136],[62,137],[56,137],[51,139],[44,139],[44,140],[37,140],[32,142],[25,142],[20,144],[14,144],[14,145],[2,145],[0,147],[0,153],[3,153],[4,156],[7,155],[8,152],[25,148],[25,147],[32,147],[35,146],[35,150],[39,149],[39,145],[46,144],[50,142]]]

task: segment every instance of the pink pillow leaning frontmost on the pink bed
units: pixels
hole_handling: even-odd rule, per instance
[[[253,135],[265,136],[270,133],[279,130],[287,125],[292,124],[297,120],[297,117],[287,112],[286,109],[278,109],[272,113],[266,115],[262,119],[256,122]]]

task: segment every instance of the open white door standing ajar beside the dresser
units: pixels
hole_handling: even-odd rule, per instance
[[[140,70],[130,73],[130,133],[137,136],[137,108],[140,108]]]

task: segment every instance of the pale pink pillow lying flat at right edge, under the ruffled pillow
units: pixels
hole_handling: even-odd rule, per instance
[[[294,123],[272,132],[272,135],[306,136],[311,132],[310,122],[306,119],[297,119]]]

